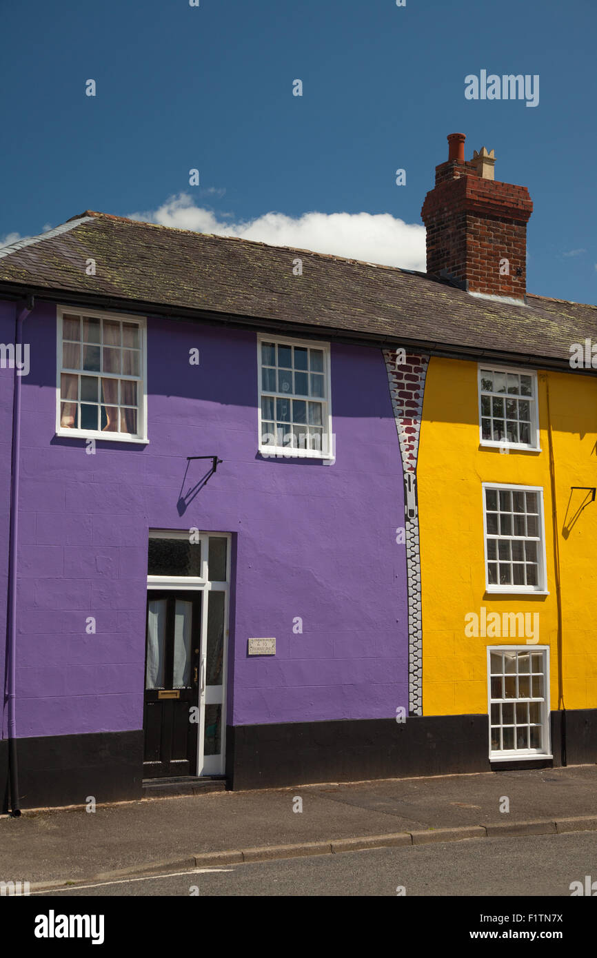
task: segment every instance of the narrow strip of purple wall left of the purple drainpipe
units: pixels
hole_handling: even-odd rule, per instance
[[[0,300],[0,343],[14,342],[14,303]],[[0,368],[0,689],[4,702],[6,681],[7,597],[9,585],[9,541],[11,530],[11,448],[12,394],[14,370]],[[8,710],[0,723],[0,738],[8,734]]]

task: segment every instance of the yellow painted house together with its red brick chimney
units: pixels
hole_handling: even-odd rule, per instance
[[[450,728],[492,767],[595,762],[597,309],[526,294],[530,197],[494,181],[493,152],[465,161],[464,136],[448,141],[423,208],[427,272],[485,301],[494,335],[490,306],[517,305],[520,336],[425,357],[419,714],[472,717],[474,733]],[[483,347],[482,316],[475,335]]]

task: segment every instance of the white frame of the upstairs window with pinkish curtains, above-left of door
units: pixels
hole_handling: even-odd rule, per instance
[[[60,425],[60,375],[62,373],[62,316],[64,313],[74,313],[80,316],[91,316],[93,319],[114,319],[122,323],[135,323],[139,328],[139,342],[141,344],[141,376],[138,382],[138,432],[103,432],[101,429],[66,429]],[[107,310],[87,309],[77,306],[57,307],[57,382],[56,382],[56,435],[71,439],[95,439],[105,443],[137,443],[148,445],[148,335],[147,320],[124,312],[109,312]],[[79,370],[84,376],[85,371]],[[101,373],[88,371],[89,376],[99,376]],[[122,378],[122,376],[121,376]],[[126,378],[126,376],[125,376]]]

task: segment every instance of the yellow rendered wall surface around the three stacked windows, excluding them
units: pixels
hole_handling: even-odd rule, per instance
[[[597,501],[572,525],[597,485],[597,377],[539,371],[540,452],[479,445],[476,362],[432,357],[417,467],[423,598],[424,715],[486,714],[487,646],[524,638],[468,638],[465,616],[539,612],[537,645],[550,646],[550,707],[559,705],[558,604],[548,404],[555,462],[563,609],[563,703],[597,708]],[[485,591],[483,482],[543,489],[547,596]],[[564,527],[565,523],[565,529]],[[533,648],[532,645],[529,648]]]

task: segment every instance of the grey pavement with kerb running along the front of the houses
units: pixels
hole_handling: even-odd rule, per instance
[[[0,880],[27,880],[33,891],[363,848],[595,832],[596,796],[597,765],[575,765],[27,810],[0,817]]]

